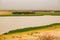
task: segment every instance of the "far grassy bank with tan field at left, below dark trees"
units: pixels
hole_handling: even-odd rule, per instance
[[[13,12],[0,12],[0,16],[44,16],[44,15],[60,16],[60,12],[35,12],[32,14],[29,13],[13,14]]]

